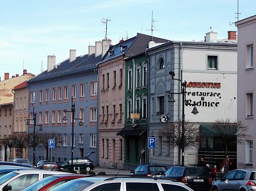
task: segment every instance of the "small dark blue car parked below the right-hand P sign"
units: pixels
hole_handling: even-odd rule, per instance
[[[162,176],[166,171],[164,165],[138,165],[131,176]]]

